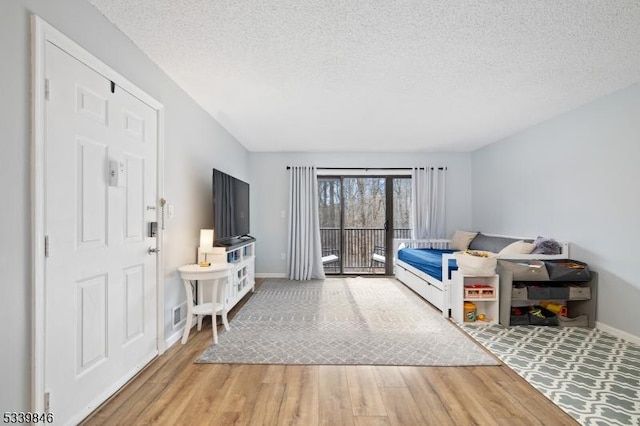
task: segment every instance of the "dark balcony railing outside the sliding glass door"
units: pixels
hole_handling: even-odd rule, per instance
[[[410,237],[410,228],[393,230],[393,238]],[[338,257],[336,262],[324,265],[325,273],[338,274],[342,266],[345,274],[384,274],[384,264],[372,260],[374,247],[385,247],[384,228],[320,228],[320,239],[323,253]]]

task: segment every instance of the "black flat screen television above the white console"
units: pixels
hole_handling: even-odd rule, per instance
[[[218,245],[249,236],[249,184],[213,169],[213,230]]]

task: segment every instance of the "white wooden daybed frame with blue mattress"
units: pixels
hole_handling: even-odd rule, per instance
[[[510,235],[487,234],[491,237],[514,238],[518,240],[534,240],[530,237],[514,237]],[[453,254],[444,254],[442,256],[442,281],[428,275],[427,273],[409,265],[398,259],[398,250],[402,248],[432,248],[432,249],[448,249],[451,240],[447,239],[427,239],[427,240],[411,240],[396,239],[393,240],[393,253],[395,257],[394,271],[396,278],[411,290],[420,295],[427,302],[442,311],[442,315],[449,317],[451,309],[451,280],[449,279],[448,265],[449,260],[453,259]],[[498,259],[508,260],[550,260],[550,259],[568,259],[569,243],[560,243],[560,254],[509,254],[498,256]]]

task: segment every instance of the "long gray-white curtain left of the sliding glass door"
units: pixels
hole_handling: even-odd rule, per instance
[[[287,273],[291,280],[323,279],[322,243],[315,167],[289,169]]]

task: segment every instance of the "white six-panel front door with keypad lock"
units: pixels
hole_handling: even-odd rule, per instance
[[[157,115],[50,42],[44,72],[44,387],[66,424],[157,354]]]

